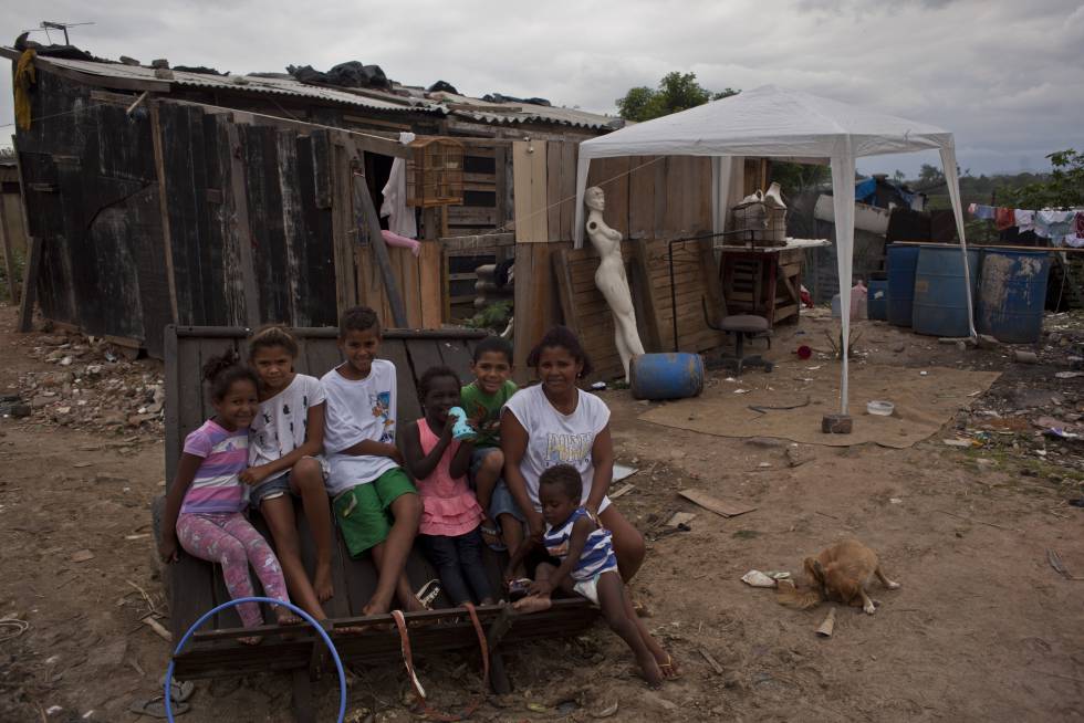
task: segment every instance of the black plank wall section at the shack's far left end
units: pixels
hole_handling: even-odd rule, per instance
[[[111,95],[38,74],[34,120],[15,134],[28,231],[41,239],[34,291],[46,318],[160,355],[171,310],[161,247],[147,243],[161,233],[150,119]]]

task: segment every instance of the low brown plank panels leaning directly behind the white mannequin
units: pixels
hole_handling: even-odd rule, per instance
[[[636,323],[644,348],[673,352],[674,303],[670,297],[669,252],[665,240],[636,239],[623,244],[625,270],[636,306]],[[595,286],[598,255],[593,249],[561,250],[553,255],[557,295],[564,323],[580,336],[595,373],[590,380],[608,380],[625,374],[614,345],[609,305]],[[674,244],[674,286],[677,287],[678,336],[681,352],[706,352],[723,343],[710,328],[718,321],[720,289],[711,240]]]

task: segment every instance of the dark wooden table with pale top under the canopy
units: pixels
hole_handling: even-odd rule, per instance
[[[719,279],[727,314],[755,314],[773,327],[788,319],[796,323],[805,251],[830,243],[826,239],[788,239],[784,247],[721,247]]]

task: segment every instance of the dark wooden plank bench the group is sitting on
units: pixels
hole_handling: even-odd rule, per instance
[[[300,347],[298,371],[319,377],[342,360],[335,343],[337,329],[298,328],[293,329],[293,334]],[[166,475],[170,484],[186,434],[212,413],[200,378],[204,362],[227,349],[236,349],[243,358],[248,335],[248,329],[239,327],[166,328]],[[421,416],[417,378],[428,367],[449,366],[462,378],[467,378],[473,347],[484,335],[484,332],[460,329],[386,329],[381,356],[395,364],[398,375],[396,421],[402,425]],[[165,497],[161,496],[153,505],[155,539],[158,539],[160,532],[164,503]],[[296,518],[302,562],[312,575],[315,567],[312,535],[300,509]],[[271,541],[259,514],[252,514],[252,522]],[[500,589],[501,586],[501,557],[487,549],[487,567],[494,589]],[[417,548],[411,552],[406,572],[415,589],[426,580],[437,577],[436,570]],[[363,606],[376,588],[376,568],[367,556],[362,559],[351,558],[337,531],[332,576],[335,595],[324,608],[329,615],[325,629],[330,631],[343,662],[375,664],[399,658],[399,637],[394,629],[392,616],[361,616]],[[167,588],[174,640],[179,640],[207,610],[230,599],[221,572],[210,563],[184,552],[177,563],[163,569],[163,583]],[[254,576],[253,589],[258,595],[262,594]],[[479,607],[477,612],[487,629],[491,650],[489,682],[498,693],[511,690],[500,656],[502,642],[574,636],[591,626],[597,617],[597,610],[581,598],[554,600],[551,610],[529,616],[512,614],[503,606]],[[265,610],[267,619],[271,619],[269,615],[270,610]],[[478,637],[466,609],[448,607],[442,595],[437,599],[436,609],[406,614],[405,617],[408,624],[440,620],[440,625],[411,627],[410,641],[415,656],[442,650],[478,649]],[[337,628],[374,622],[386,625],[362,633],[335,633]],[[269,671],[290,673],[293,679],[295,717],[300,722],[312,721],[310,682],[320,673],[321,661],[325,656],[324,643],[312,630],[289,639],[279,632],[277,626],[267,626],[259,630],[243,629],[234,608],[228,608],[215,616],[206,629],[194,635],[187,649],[175,657],[174,674],[178,680],[190,680]],[[239,637],[253,633],[264,636],[260,646],[246,646],[237,641]]]

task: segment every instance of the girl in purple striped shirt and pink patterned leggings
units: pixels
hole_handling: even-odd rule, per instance
[[[233,599],[253,595],[249,564],[267,597],[289,601],[279,560],[268,542],[244,518],[244,486],[240,474],[249,462],[249,425],[260,408],[256,373],[227,353],[204,365],[215,416],[185,438],[185,451],[166,495],[159,553],[167,563],[186,553],[222,566],[226,589]],[[262,625],[256,602],[243,602],[238,615],[246,628]],[[279,624],[300,622],[288,608],[275,607]],[[257,643],[259,638],[241,638]]]

